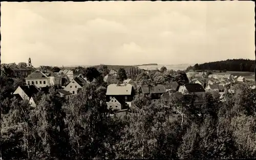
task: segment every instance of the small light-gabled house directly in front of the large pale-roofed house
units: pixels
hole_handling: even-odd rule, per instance
[[[120,97],[113,97],[108,103],[107,103],[107,109],[108,110],[124,110],[128,109],[129,104],[127,104],[122,98]]]

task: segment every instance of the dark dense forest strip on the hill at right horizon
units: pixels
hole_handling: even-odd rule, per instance
[[[217,62],[208,62],[189,66],[186,70],[221,70],[221,71],[242,71],[254,72],[255,61],[249,59],[232,59]]]

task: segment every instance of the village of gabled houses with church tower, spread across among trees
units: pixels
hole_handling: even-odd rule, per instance
[[[30,58],[27,66],[11,65],[10,68],[14,71],[15,76],[25,77],[26,81],[25,86],[16,88],[13,96],[20,98],[20,100],[29,100],[32,106],[36,106],[34,101],[35,94],[40,91],[48,93],[50,86],[56,89],[59,97],[70,99],[78,94],[79,89],[90,83],[87,77],[84,77],[82,74],[74,75],[70,69],[63,68],[59,72],[36,70]],[[148,74],[148,71],[144,71],[144,73]],[[139,86],[132,78],[125,79],[123,83],[112,84],[113,79],[118,74],[116,70],[111,69],[103,77],[103,81],[108,84],[105,102],[108,109],[120,113],[127,111],[127,109],[133,106],[134,97],[139,93],[151,95],[152,101],[161,99],[166,102],[170,100],[171,96],[181,101],[183,95],[195,94],[195,103],[202,105],[206,92],[217,92],[219,93],[220,101],[225,101],[225,93],[234,93],[232,86],[236,84],[252,84],[249,85],[250,88],[255,89],[253,79],[246,79],[243,76],[234,76],[232,74],[207,74],[207,72],[186,72],[189,82],[184,85],[179,85],[178,82],[165,82],[158,85]]]

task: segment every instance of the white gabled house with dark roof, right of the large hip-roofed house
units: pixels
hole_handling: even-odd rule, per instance
[[[77,94],[77,90],[82,88],[87,84],[87,81],[81,77],[75,77],[65,88],[65,91],[72,93],[72,95]]]

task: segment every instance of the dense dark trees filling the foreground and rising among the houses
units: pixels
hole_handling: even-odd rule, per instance
[[[207,92],[203,105],[193,95],[181,102],[170,97],[152,102],[137,94],[124,116],[106,109],[109,69],[84,69],[91,83],[71,99],[52,88],[35,95],[36,108],[11,96],[23,79],[1,74],[1,153],[3,159],[232,159],[256,158],[256,92],[246,84],[234,94]],[[184,72],[166,68],[145,74],[118,70],[116,82],[131,77],[138,86],[177,81],[188,83]],[[95,79],[93,81],[93,79]],[[12,79],[12,80],[11,80]],[[175,109],[177,112],[174,112]]]

